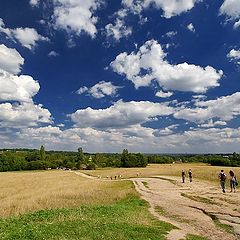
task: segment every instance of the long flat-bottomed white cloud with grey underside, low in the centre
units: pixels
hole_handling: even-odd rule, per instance
[[[77,127],[126,128],[150,121],[156,116],[166,116],[174,111],[161,103],[148,101],[118,101],[106,109],[86,108],[77,110],[70,117]]]

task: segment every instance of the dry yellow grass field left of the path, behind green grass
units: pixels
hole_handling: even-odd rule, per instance
[[[128,181],[104,182],[73,172],[0,173],[0,217],[40,209],[106,204],[135,193]]]

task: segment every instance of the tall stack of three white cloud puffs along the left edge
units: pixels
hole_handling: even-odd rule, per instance
[[[31,76],[15,75],[23,63],[24,59],[15,49],[0,45],[0,129],[52,122],[51,113],[33,102],[39,83]]]

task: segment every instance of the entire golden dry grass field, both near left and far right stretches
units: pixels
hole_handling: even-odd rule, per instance
[[[146,168],[105,168],[81,171],[101,179],[122,179],[150,176],[179,176],[181,171],[193,171],[193,178],[218,183],[221,169],[232,169],[240,179],[240,168],[212,167],[204,164],[150,164]],[[0,217],[19,215],[40,209],[108,204],[137,194],[130,181],[98,181],[83,178],[74,172],[50,170],[0,173]]]

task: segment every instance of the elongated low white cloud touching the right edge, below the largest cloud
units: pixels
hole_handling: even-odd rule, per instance
[[[204,122],[213,118],[229,121],[238,115],[240,115],[240,92],[216,100],[197,101],[195,108],[180,109],[174,117],[192,122]]]

